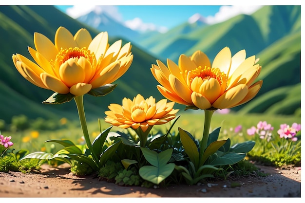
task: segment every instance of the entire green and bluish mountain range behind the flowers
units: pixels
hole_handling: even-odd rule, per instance
[[[86,28],[92,37],[101,32],[100,29],[109,30],[110,44],[118,39],[122,39],[123,44],[129,41],[133,44],[133,63],[127,73],[114,82],[118,84],[114,92],[105,97],[85,95],[88,119],[103,118],[110,103],[121,104],[122,98],[133,98],[137,93],[145,98],[150,95],[156,100],[164,98],[157,91],[157,82],[149,70],[156,59],[177,61],[180,54],[191,55],[198,49],[213,58],[225,46],[229,46],[232,54],[246,49],[247,56],[257,55],[263,66],[259,79],[263,79],[264,84],[257,99],[235,110],[241,113],[293,114],[301,106],[300,16],[300,6],[264,6],[250,16],[239,15],[214,25],[194,20],[165,34],[146,33],[132,39],[112,33],[110,25],[115,27],[116,22],[107,16],[101,20],[108,19],[111,23],[104,28],[95,28],[80,21],[85,17],[71,18],[54,6],[0,6],[0,119],[10,122],[12,116],[19,114],[30,118],[78,119],[73,101],[62,105],[42,104],[53,92],[26,81],[12,62],[12,54],[16,53],[31,59],[27,47],[34,47],[34,32],[54,40],[59,26],[66,27],[72,34]],[[86,18],[90,19],[89,16]],[[127,33],[123,32],[124,29],[117,27],[121,33]]]

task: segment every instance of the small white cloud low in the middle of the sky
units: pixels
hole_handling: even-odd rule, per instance
[[[168,31],[166,27],[157,27],[153,23],[144,23],[141,18],[133,18],[132,20],[127,20],[124,22],[126,27],[132,30],[146,32],[146,31],[159,31],[165,33]]]

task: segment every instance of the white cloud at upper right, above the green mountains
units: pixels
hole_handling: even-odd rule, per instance
[[[237,16],[239,14],[247,14],[250,15],[260,9],[262,6],[260,5],[233,5],[233,6],[221,6],[219,12],[215,14],[215,16],[208,16],[207,23],[215,24],[218,22],[225,21],[229,18]]]

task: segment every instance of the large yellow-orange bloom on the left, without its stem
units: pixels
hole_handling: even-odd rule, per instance
[[[59,27],[55,44],[40,33],[34,33],[35,49],[28,50],[35,62],[23,55],[13,55],[19,73],[38,87],[60,94],[80,96],[122,76],[133,61],[130,42],[123,47],[118,40],[111,46],[108,33],[101,32],[94,39],[86,29],[73,36]]]

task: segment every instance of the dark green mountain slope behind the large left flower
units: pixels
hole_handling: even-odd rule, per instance
[[[27,47],[34,47],[33,34],[39,32],[54,40],[59,26],[66,27],[72,34],[80,28],[86,28],[95,37],[99,32],[88,27],[54,6],[0,6],[0,119],[10,122],[13,115],[26,114],[29,118],[68,117],[78,119],[75,102],[61,105],[45,105],[42,101],[53,92],[36,87],[25,80],[16,70],[12,55],[22,54],[32,60]],[[118,38],[110,38],[112,44]],[[123,40],[123,44],[127,41]],[[96,119],[104,117],[110,103],[121,103],[122,98],[133,98],[137,93],[144,97],[153,95],[163,98],[157,91],[157,82],[153,78],[150,67],[155,58],[143,50],[133,46],[133,63],[130,69],[119,80],[114,92],[104,97],[85,95],[85,111],[87,117]]]

